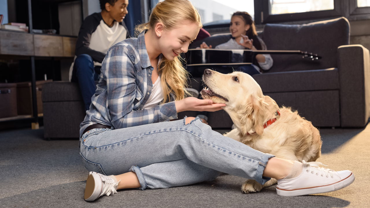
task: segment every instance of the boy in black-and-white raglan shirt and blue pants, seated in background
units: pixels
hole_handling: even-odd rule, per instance
[[[70,68],[70,81],[80,86],[85,110],[90,108],[96,90],[95,81],[99,80],[101,63],[108,49],[129,38],[123,21],[128,13],[128,0],[99,1],[101,12],[87,16],[81,25],[75,60]]]

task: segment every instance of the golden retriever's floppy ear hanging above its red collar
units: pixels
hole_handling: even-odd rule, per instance
[[[247,134],[252,128],[256,134],[263,134],[263,124],[265,122],[263,100],[263,97],[259,98],[254,95],[250,95],[247,98],[246,105],[243,106],[239,114],[240,120],[243,123],[242,127],[244,127],[239,130],[241,130],[243,135]]]

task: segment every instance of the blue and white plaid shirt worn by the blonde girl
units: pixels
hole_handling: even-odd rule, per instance
[[[85,128],[96,123],[117,129],[177,118],[173,96],[169,103],[142,109],[153,88],[154,69],[145,47],[144,33],[108,50],[90,110],[80,124],[80,137]]]

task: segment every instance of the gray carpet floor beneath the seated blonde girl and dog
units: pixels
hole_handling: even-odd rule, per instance
[[[334,170],[352,170],[356,180],[349,187],[302,197],[279,197],[275,186],[242,194],[245,179],[223,174],[215,181],[130,189],[85,202],[88,172],[78,140],[44,140],[42,128],[0,131],[0,207],[370,207],[370,126],[320,132],[323,154],[318,161]]]

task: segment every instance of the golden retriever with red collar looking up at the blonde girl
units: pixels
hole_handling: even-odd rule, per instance
[[[201,91],[204,99],[225,103],[223,107],[231,117],[235,129],[224,134],[243,144],[279,158],[306,162],[316,161],[321,155],[319,130],[297,111],[281,107],[269,96],[263,95],[258,83],[248,74],[235,71],[221,74],[206,69]],[[272,178],[261,185],[247,180],[244,193],[259,192],[277,183]]]

